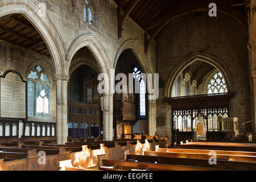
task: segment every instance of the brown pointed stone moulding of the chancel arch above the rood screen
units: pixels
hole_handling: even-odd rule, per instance
[[[196,52],[192,53],[191,55],[188,55],[183,60],[181,60],[180,63],[177,64],[176,67],[174,68],[174,71],[171,72],[171,75],[168,78],[166,84],[166,88],[164,90],[164,97],[171,97],[172,86],[174,85],[177,76],[179,76],[180,73],[186,67],[188,67],[189,64],[197,60],[204,61],[210,65],[213,65],[213,67],[217,68],[224,76],[229,92],[234,92],[234,82],[232,74],[230,73],[228,67],[226,67],[226,65],[223,63],[223,61],[221,61],[217,57],[209,55],[208,53]]]

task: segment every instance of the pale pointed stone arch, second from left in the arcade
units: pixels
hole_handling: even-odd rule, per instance
[[[79,51],[82,47],[88,47],[90,52],[93,54],[94,58],[97,61],[97,69],[100,71],[99,73],[106,73],[108,76],[110,76],[110,60],[108,57],[108,54],[106,53],[106,50],[104,46],[100,43],[100,41],[97,40],[96,36],[94,36],[91,33],[86,33],[78,36],[72,43],[71,46],[69,46],[68,49],[68,68],[66,70],[66,73],[69,73],[69,67],[71,67],[71,61],[73,56],[75,56],[76,52]]]

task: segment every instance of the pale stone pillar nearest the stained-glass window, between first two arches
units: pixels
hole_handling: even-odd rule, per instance
[[[68,137],[68,81],[68,76],[55,76],[57,144],[65,144]]]

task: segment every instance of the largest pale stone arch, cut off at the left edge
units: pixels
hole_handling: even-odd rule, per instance
[[[55,75],[63,75],[63,57],[67,50],[57,28],[47,14],[39,15],[39,6],[34,0],[10,0],[0,6],[0,17],[19,13],[36,28],[46,43],[54,63]]]

